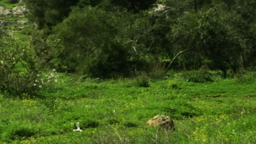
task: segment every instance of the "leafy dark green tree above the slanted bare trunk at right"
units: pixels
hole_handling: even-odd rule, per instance
[[[232,69],[236,72],[242,61],[241,54],[246,48],[243,35],[230,23],[236,19],[239,19],[238,15],[223,13],[217,8],[200,13],[187,13],[172,27],[170,38],[173,50],[176,53],[185,49],[196,50],[213,62],[212,68],[224,72]],[[195,56],[190,54],[193,53],[185,56]]]

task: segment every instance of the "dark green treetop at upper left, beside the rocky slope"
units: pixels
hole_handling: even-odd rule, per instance
[[[39,29],[51,29],[68,16],[72,6],[95,6],[101,0],[24,0],[24,2],[28,9],[29,20],[35,22]]]

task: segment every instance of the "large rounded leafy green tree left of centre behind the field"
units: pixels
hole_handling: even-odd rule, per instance
[[[119,31],[115,21],[100,8],[74,8],[49,37],[51,46],[59,51],[54,61],[59,70],[92,77],[125,72],[127,53],[116,38]]]

